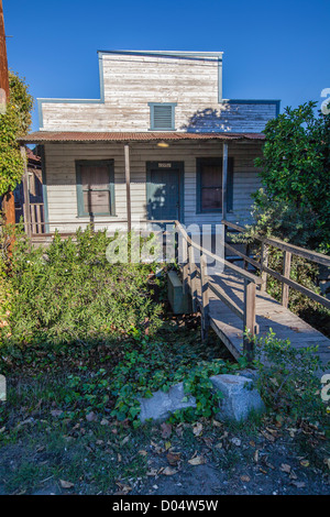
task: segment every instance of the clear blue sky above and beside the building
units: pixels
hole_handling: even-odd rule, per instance
[[[98,98],[98,50],[223,51],[223,96],[296,107],[330,88],[329,0],[3,0],[36,97]],[[34,112],[33,129],[37,129]]]

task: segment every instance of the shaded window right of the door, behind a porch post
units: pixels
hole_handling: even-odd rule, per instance
[[[227,205],[232,210],[233,160],[228,160]],[[222,158],[197,158],[197,211],[222,211]]]

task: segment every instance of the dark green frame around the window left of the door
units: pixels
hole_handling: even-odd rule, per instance
[[[113,160],[76,160],[76,184],[77,184],[77,212],[78,217],[116,217],[114,205],[114,161]],[[107,212],[86,212],[84,208],[84,189],[81,182],[81,167],[84,165],[107,165],[109,172],[108,188],[100,188],[100,191],[109,190],[110,206]],[[96,189],[96,191],[98,191]]]

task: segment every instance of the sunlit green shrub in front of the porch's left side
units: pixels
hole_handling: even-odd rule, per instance
[[[109,264],[105,231],[79,230],[76,242],[55,234],[50,248],[30,250],[19,239],[11,264],[11,344],[99,342],[148,321],[161,324],[148,274],[155,265]]]

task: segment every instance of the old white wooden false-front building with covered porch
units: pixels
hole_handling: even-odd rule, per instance
[[[99,99],[38,99],[45,231],[246,221],[278,100],[223,99],[222,53],[99,52]]]

